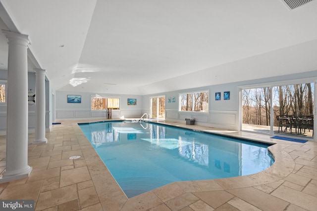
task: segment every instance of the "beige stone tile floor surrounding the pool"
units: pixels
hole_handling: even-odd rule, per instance
[[[88,121],[82,121],[88,122]],[[127,199],[77,125],[64,121],[33,145],[29,134],[29,178],[0,184],[0,199],[32,199],[46,211],[316,211],[317,142],[297,143],[268,135],[211,127],[208,130],[275,143],[275,163],[247,176],[174,182]],[[6,137],[0,136],[0,172],[5,169]],[[70,156],[80,159],[70,160]]]

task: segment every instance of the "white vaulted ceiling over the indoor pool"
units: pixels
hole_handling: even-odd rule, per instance
[[[317,0],[0,3],[0,28],[29,35],[55,90],[153,94],[317,70]],[[0,47],[6,69],[1,33]]]

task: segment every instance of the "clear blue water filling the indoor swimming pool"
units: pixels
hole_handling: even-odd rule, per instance
[[[151,123],[79,124],[128,198],[174,181],[257,173],[273,164],[267,146]]]

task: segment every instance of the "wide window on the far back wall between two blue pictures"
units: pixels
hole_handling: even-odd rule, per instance
[[[106,110],[119,109],[120,107],[119,97],[107,97],[107,96],[92,96],[91,97],[91,110]]]

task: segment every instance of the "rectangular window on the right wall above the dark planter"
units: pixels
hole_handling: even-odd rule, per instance
[[[180,111],[209,110],[209,91],[189,92],[179,94]]]

